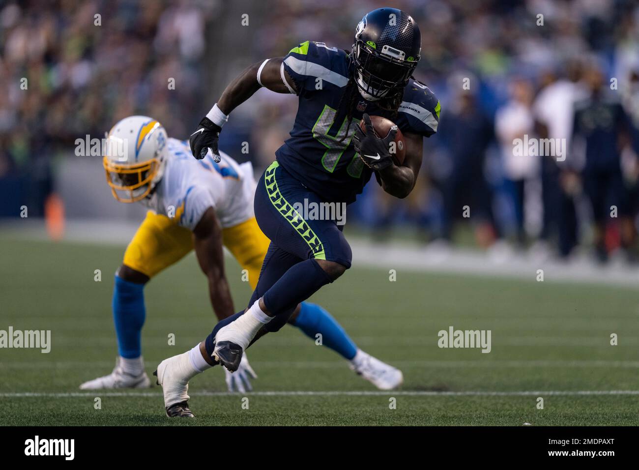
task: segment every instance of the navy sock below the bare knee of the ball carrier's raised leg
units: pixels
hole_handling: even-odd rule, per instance
[[[265,292],[264,304],[266,309],[275,316],[288,313],[298,303],[304,302],[315,294],[321,286],[331,282],[332,279],[328,277],[325,270],[321,269],[316,260],[310,258],[291,266],[284,276]]]

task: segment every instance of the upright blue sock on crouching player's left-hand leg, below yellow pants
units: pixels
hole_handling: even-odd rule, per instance
[[[118,336],[118,353],[127,359],[142,356],[141,333],[146,310],[144,284],[125,281],[116,275],[113,288],[113,321]]]

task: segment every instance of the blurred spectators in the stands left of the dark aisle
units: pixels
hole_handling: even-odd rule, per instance
[[[0,7],[0,215],[41,215],[56,161],[150,114],[185,135],[215,2],[29,0]],[[173,79],[173,89],[169,79]],[[194,114],[196,113],[196,114]]]

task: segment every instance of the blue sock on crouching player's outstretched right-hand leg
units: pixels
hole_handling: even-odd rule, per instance
[[[300,313],[295,318],[295,324],[306,336],[316,340],[316,334],[321,334],[322,344],[337,352],[349,361],[355,357],[357,346],[349,338],[342,325],[330,316],[319,305],[302,302]]]

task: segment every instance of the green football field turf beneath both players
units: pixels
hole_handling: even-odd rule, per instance
[[[360,269],[356,260],[312,300],[362,349],[403,370],[399,391],[376,391],[337,354],[286,326],[248,351],[256,393],[226,394],[224,373],[214,368],[190,384],[197,419],[176,421],[164,416],[158,386],[78,389],[110,372],[116,357],[112,276],[123,247],[0,241],[0,329],[52,336],[49,354],[0,349],[2,425],[639,424],[637,290],[537,282],[534,273],[521,280]],[[397,281],[389,281],[389,269]],[[227,276],[243,306],[250,288],[230,259]],[[151,281],[146,308],[150,374],[203,340],[215,322],[193,255]],[[450,325],[491,330],[491,352],[440,349],[437,333]],[[619,345],[610,345],[612,333]]]

